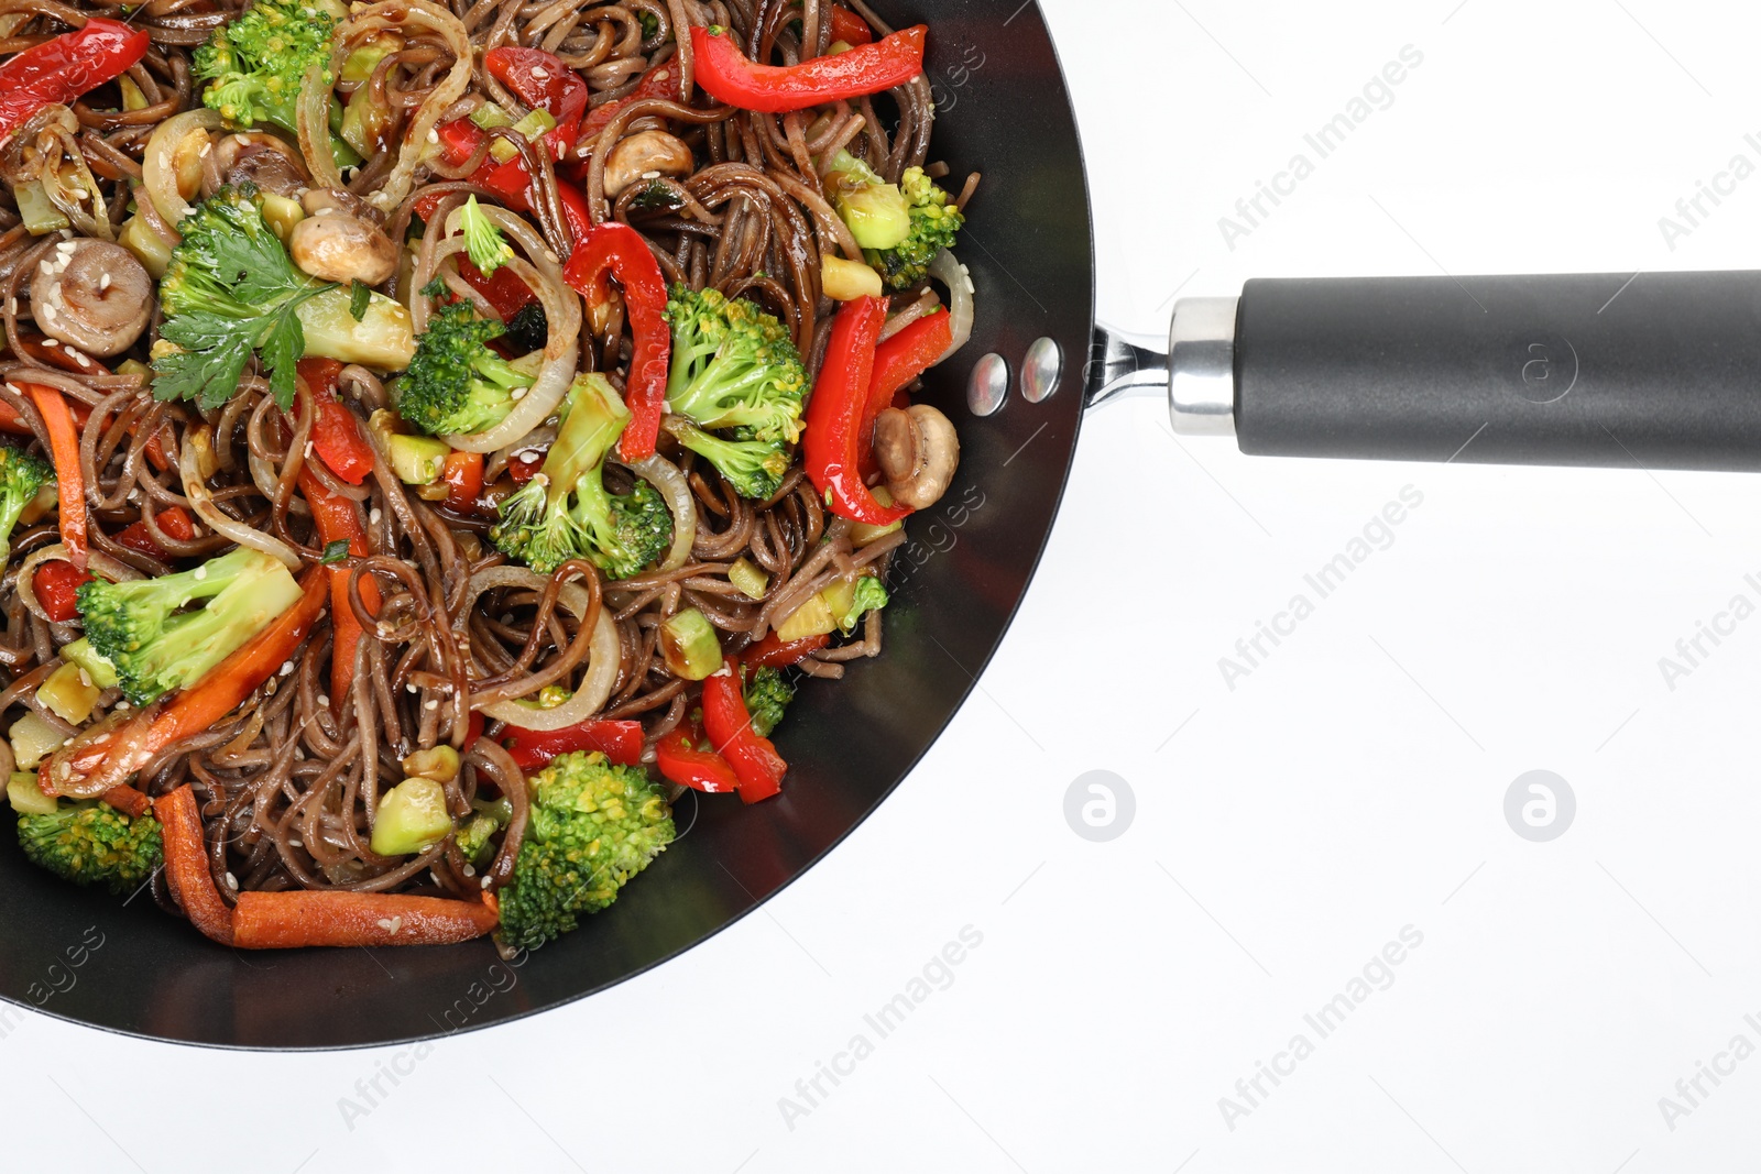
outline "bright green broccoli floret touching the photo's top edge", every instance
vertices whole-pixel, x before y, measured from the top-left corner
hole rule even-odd
[[[227,127],[248,130],[259,121],[275,123],[298,136],[299,88],[306,70],[322,69],[321,84],[329,90],[331,35],[336,19],[310,4],[292,0],[255,0],[197,46],[192,72],[210,81],[203,106],[220,111]],[[331,136],[331,157],[338,167],[354,167],[361,157]]]

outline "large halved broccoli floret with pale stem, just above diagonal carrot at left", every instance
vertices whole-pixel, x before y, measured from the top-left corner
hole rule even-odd
[[[247,547],[157,579],[92,579],[77,595],[86,639],[137,706],[194,685],[298,598],[287,567]],[[195,600],[208,604],[180,611]]]

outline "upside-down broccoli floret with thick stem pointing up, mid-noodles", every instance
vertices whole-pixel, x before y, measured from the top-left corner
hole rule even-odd
[[[502,502],[502,521],[490,532],[504,554],[541,574],[588,558],[609,577],[629,579],[666,553],[673,516],[655,488],[637,481],[623,496],[606,489],[606,458],[629,419],[604,375],[576,377],[544,465]]]

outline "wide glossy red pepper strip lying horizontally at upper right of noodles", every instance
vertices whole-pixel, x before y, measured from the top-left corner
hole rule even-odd
[[[690,30],[690,51],[697,84],[711,99],[745,111],[785,114],[905,84],[923,72],[928,33],[928,25],[916,25],[849,53],[799,65],[759,65],[740,51],[727,30],[711,26]]]

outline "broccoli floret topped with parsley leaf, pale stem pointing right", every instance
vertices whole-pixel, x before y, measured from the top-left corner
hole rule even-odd
[[[282,408],[294,407],[294,363],[305,354],[391,371],[409,366],[410,312],[368,294],[356,315],[347,289],[301,273],[262,218],[254,185],[220,188],[178,222],[178,232],[183,239],[158,282],[166,320],[153,345],[157,398],[217,408],[259,349]]]

